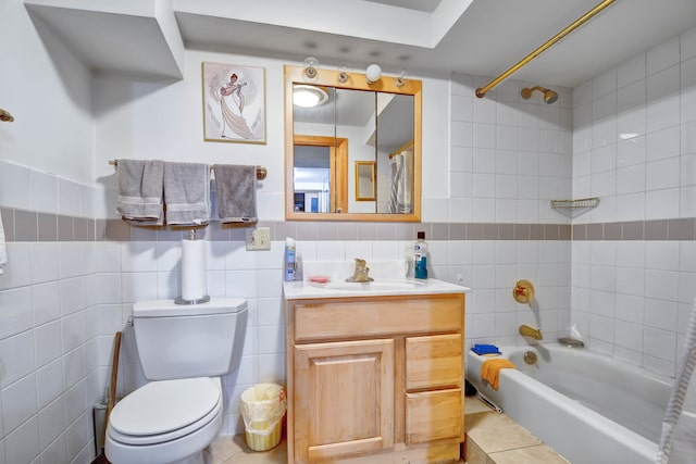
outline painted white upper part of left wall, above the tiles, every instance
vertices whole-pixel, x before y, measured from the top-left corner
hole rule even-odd
[[[0,105],[15,118],[0,125],[0,160],[90,185],[89,72],[50,33],[39,37],[21,0],[0,1]]]

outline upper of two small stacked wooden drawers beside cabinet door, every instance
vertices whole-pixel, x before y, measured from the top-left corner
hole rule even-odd
[[[406,389],[461,387],[461,334],[407,337]]]

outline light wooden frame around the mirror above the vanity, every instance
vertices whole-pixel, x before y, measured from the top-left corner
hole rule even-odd
[[[422,140],[422,83],[418,79],[407,79],[401,87],[397,87],[396,78],[382,76],[380,80],[368,84],[364,74],[346,73],[345,83],[338,81],[340,74],[335,70],[316,70],[316,77],[310,79],[304,75],[302,66],[286,65],[285,74],[285,218],[286,221],[355,221],[355,222],[421,222],[421,140]],[[295,135],[293,86],[295,84],[320,85],[337,89],[366,90],[386,93],[407,95],[413,97],[413,212],[410,214],[390,213],[307,213],[295,211],[295,179],[294,158],[295,145],[301,145],[308,135]],[[347,156],[346,156],[347,158]],[[376,162],[376,160],[375,160]],[[347,166],[346,166],[347,167]],[[340,170],[339,170],[340,171]],[[348,183],[347,168],[345,183]]]

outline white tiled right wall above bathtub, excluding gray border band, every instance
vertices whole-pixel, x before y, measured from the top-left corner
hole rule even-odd
[[[575,88],[573,113],[573,196],[601,200],[575,222],[647,223],[646,240],[573,241],[572,319],[594,348],[674,375],[696,242],[647,235],[696,216],[696,29]]]

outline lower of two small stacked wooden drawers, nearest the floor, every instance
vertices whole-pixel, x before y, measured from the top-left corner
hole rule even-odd
[[[406,444],[463,438],[460,388],[406,393]]]

